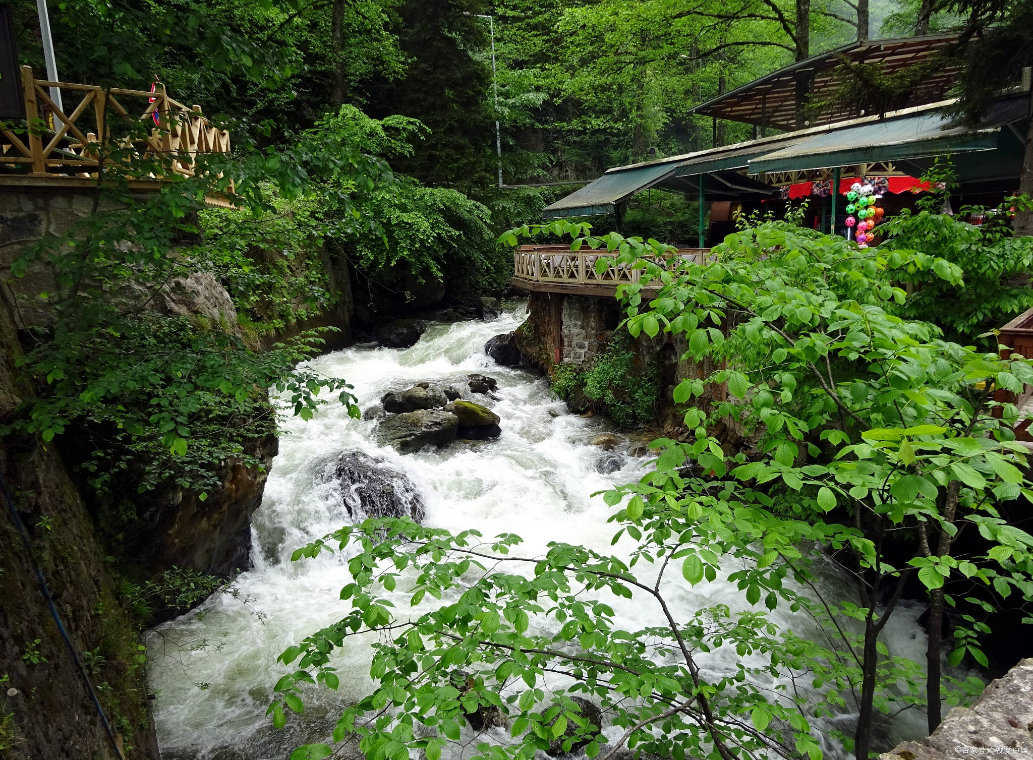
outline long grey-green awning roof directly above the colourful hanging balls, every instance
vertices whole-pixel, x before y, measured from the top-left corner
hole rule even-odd
[[[950,116],[936,110],[815,135],[751,159],[749,171],[799,171],[991,151],[997,148],[999,132],[1000,126],[953,125]]]

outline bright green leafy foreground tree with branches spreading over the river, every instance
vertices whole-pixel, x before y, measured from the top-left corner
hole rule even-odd
[[[676,402],[708,385],[730,395],[709,412],[691,407],[694,440],[655,441],[653,469],[604,495],[620,529],[614,542],[634,542],[631,562],[562,542],[524,558],[511,534],[484,541],[476,531],[451,535],[409,520],[343,528],[292,556],[347,549],[351,581],[341,598],[352,609],[281,655],[296,669],[276,686],[274,724],[303,709],[306,685],[338,686],[336,647],[379,631],[371,667],[378,686],[342,712],[334,732],[335,741],[357,734],[370,757],[419,749],[439,757],[445,743],[464,740],[466,716],[481,707],[507,717],[512,741],[478,745],[475,757],[531,758],[563,733],[558,717],[575,724],[595,757],[612,742],[569,700],[577,692],[624,729],[609,752],[627,742],[660,756],[819,760],[811,721],[850,711],[859,714],[856,730],[839,735],[867,757],[876,714],[925,701],[920,665],[890,657],[879,641],[912,575],[931,595],[976,589],[995,606],[1012,594],[1033,597],[1033,536],[998,511],[1005,501],[1033,500],[1027,451],[1009,429],[1018,410],[992,398],[994,385],[1033,382],[1033,366],[943,341],[893,313],[906,299],[891,284],[901,271],[961,283],[957,265],[925,253],[859,251],[840,237],[763,224],[728,235],[716,261],[670,271],[657,263],[660,244],[588,231],[561,221],[502,240],[569,234],[574,248],[605,247],[641,268],[637,283],[620,286],[628,332],[683,334],[684,358],[721,368],[684,381]],[[654,284],[647,302],[643,291]],[[755,433],[754,454],[728,455],[712,435],[727,418]],[[781,495],[824,518],[773,510]],[[952,546],[963,528],[979,540]],[[888,532],[907,542],[895,549],[901,560],[888,553]],[[824,550],[808,548],[816,544]],[[856,600],[819,595],[813,581],[829,560],[849,571]],[[690,585],[725,577],[749,608],[714,605],[675,620],[665,594],[678,585],[661,582],[675,568]],[[413,607],[440,601],[396,612],[383,594],[399,582]],[[606,594],[654,607],[664,622],[617,630]],[[766,611],[780,606],[805,610],[828,645],[780,629]],[[720,646],[735,647],[732,672],[705,674],[697,654]],[[470,674],[465,690],[455,687],[459,669]],[[549,690],[546,672],[567,679]],[[806,694],[790,686],[802,675],[812,684]],[[937,699],[941,680],[949,682],[927,685]],[[971,688],[956,684],[951,699]]]

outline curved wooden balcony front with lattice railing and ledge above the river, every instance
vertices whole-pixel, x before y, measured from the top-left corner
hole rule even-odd
[[[702,262],[708,248],[679,248],[669,258]],[[602,272],[596,270],[599,259],[608,259]],[[520,290],[603,295],[613,297],[617,286],[638,282],[641,270],[617,263],[617,254],[602,250],[571,251],[570,246],[521,246],[513,250],[513,277],[510,281]]]

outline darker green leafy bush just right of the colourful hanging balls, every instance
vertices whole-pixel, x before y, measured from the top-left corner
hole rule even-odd
[[[1033,209],[1033,201],[1007,197],[996,209],[967,205],[947,215],[941,207],[953,186],[949,164],[938,163],[925,179],[942,189],[926,194],[917,211],[905,209],[879,225],[886,237],[881,248],[925,251],[959,266],[964,281],[920,270],[901,272],[899,282],[912,283],[914,293],[900,313],[939,325],[949,340],[996,349],[996,336],[988,334],[1033,308],[1033,237],[1014,236],[1009,226],[1015,211]],[[983,223],[963,221],[969,215],[982,217]]]

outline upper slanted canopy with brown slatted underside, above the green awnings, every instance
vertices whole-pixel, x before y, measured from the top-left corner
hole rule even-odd
[[[797,123],[797,84],[803,83],[808,94],[806,126],[832,124],[865,116],[855,104],[840,102],[836,69],[844,61],[878,64],[883,73],[930,60],[953,42],[950,35],[928,35],[899,39],[870,39],[851,42],[826,53],[774,71],[748,85],[718,95],[692,110],[696,114],[753,124],[761,129],[793,130]],[[907,94],[898,108],[912,107],[943,100],[958,76],[957,66],[938,66]]]

